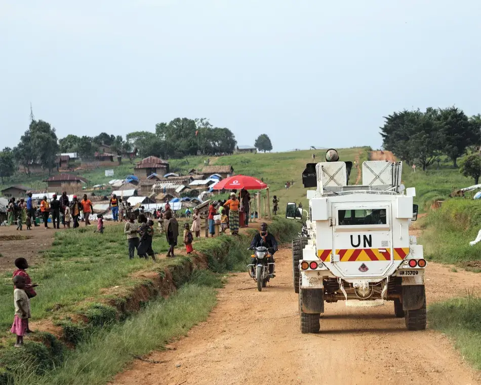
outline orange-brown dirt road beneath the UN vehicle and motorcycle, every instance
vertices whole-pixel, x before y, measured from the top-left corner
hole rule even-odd
[[[207,322],[150,357],[167,363],[136,362],[113,384],[481,384],[447,337],[407,331],[392,302],[327,303],[321,332],[301,334],[290,249],[279,250],[276,262],[276,278],[264,291],[247,273],[233,276]],[[481,288],[481,275],[435,263],[427,269],[428,301]]]

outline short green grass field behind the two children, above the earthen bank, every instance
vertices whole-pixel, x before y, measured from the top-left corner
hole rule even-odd
[[[132,284],[130,273],[152,267],[151,261],[129,259],[123,230],[119,224],[107,226],[103,235],[94,233],[93,227],[56,233],[53,247],[43,253],[44,262],[28,270],[33,282],[44,285],[37,288],[38,295],[31,301],[33,320],[75,311],[75,304],[98,295],[101,288]],[[165,237],[154,237],[153,249],[167,252]],[[164,260],[156,266],[171,262]],[[0,286],[3,329],[12,322],[11,296],[11,287]]]

